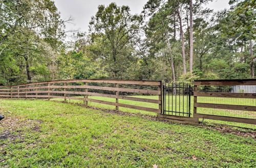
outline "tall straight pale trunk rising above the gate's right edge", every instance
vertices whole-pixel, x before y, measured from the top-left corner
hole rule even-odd
[[[189,71],[193,72],[193,8],[192,8],[192,0],[189,0],[189,23],[190,23],[190,31],[189,31]]]

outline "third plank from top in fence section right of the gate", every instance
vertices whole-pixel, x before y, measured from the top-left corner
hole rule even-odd
[[[232,110],[256,111],[256,106],[249,105],[230,105],[230,104],[212,104],[212,103],[194,103],[195,107],[219,108]]]

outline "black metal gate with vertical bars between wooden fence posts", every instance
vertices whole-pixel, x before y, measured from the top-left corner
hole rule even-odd
[[[163,114],[190,117],[191,86],[185,83],[166,83],[163,86]]]

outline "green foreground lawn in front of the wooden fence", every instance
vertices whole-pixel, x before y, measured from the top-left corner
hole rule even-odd
[[[47,100],[0,104],[0,167],[256,166],[252,137]]]

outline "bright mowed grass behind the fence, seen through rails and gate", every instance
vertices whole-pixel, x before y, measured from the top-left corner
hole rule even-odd
[[[131,97],[139,97],[139,98],[158,100],[158,96],[131,96]],[[116,102],[115,98],[99,97],[99,96],[89,96],[89,98],[103,100],[103,101]],[[55,99],[55,98],[51,99],[51,100],[63,101],[63,99]],[[73,102],[73,103],[81,103],[81,104],[83,103],[83,101],[81,101],[81,100],[67,99],[67,101]],[[183,97],[183,96],[178,96],[178,95],[177,96],[172,96],[172,95],[168,96],[167,95],[165,101],[166,101],[166,106],[165,106],[166,110],[184,111],[185,113],[188,112],[189,108],[188,108],[188,103],[187,103],[188,102],[187,96]],[[194,106],[194,97],[193,96],[191,96],[190,102],[191,102],[190,103],[190,106],[191,106],[190,113],[191,113],[191,117],[193,117],[193,106]],[[247,99],[247,98],[198,97],[198,102],[256,106],[255,99]],[[123,99],[119,99],[119,103],[131,104],[131,105],[137,105],[137,106],[143,106],[143,107],[158,108],[158,104],[156,104],[156,103],[147,103],[147,102],[123,100]],[[169,106],[168,106],[168,104],[169,104]],[[88,102],[88,105],[93,106],[93,107],[103,108],[103,109],[115,109],[115,106],[113,106],[113,105],[99,104],[99,103],[95,103],[95,102]],[[119,110],[129,112],[129,113],[141,113],[141,114],[156,116],[156,113],[153,113],[153,112],[125,108],[125,107],[119,107]],[[208,114],[208,115],[256,119],[256,113],[254,111],[241,111],[241,110],[227,110],[227,109],[198,107],[197,113]],[[172,115],[172,112],[169,112],[169,114]],[[175,115],[175,113],[173,113],[173,115]],[[179,114],[177,114],[177,115],[179,115]],[[182,114],[180,114],[180,115],[182,116]],[[233,122],[214,121],[214,120],[204,120],[204,121],[256,129],[256,126],[252,125],[252,124],[233,123]]]

